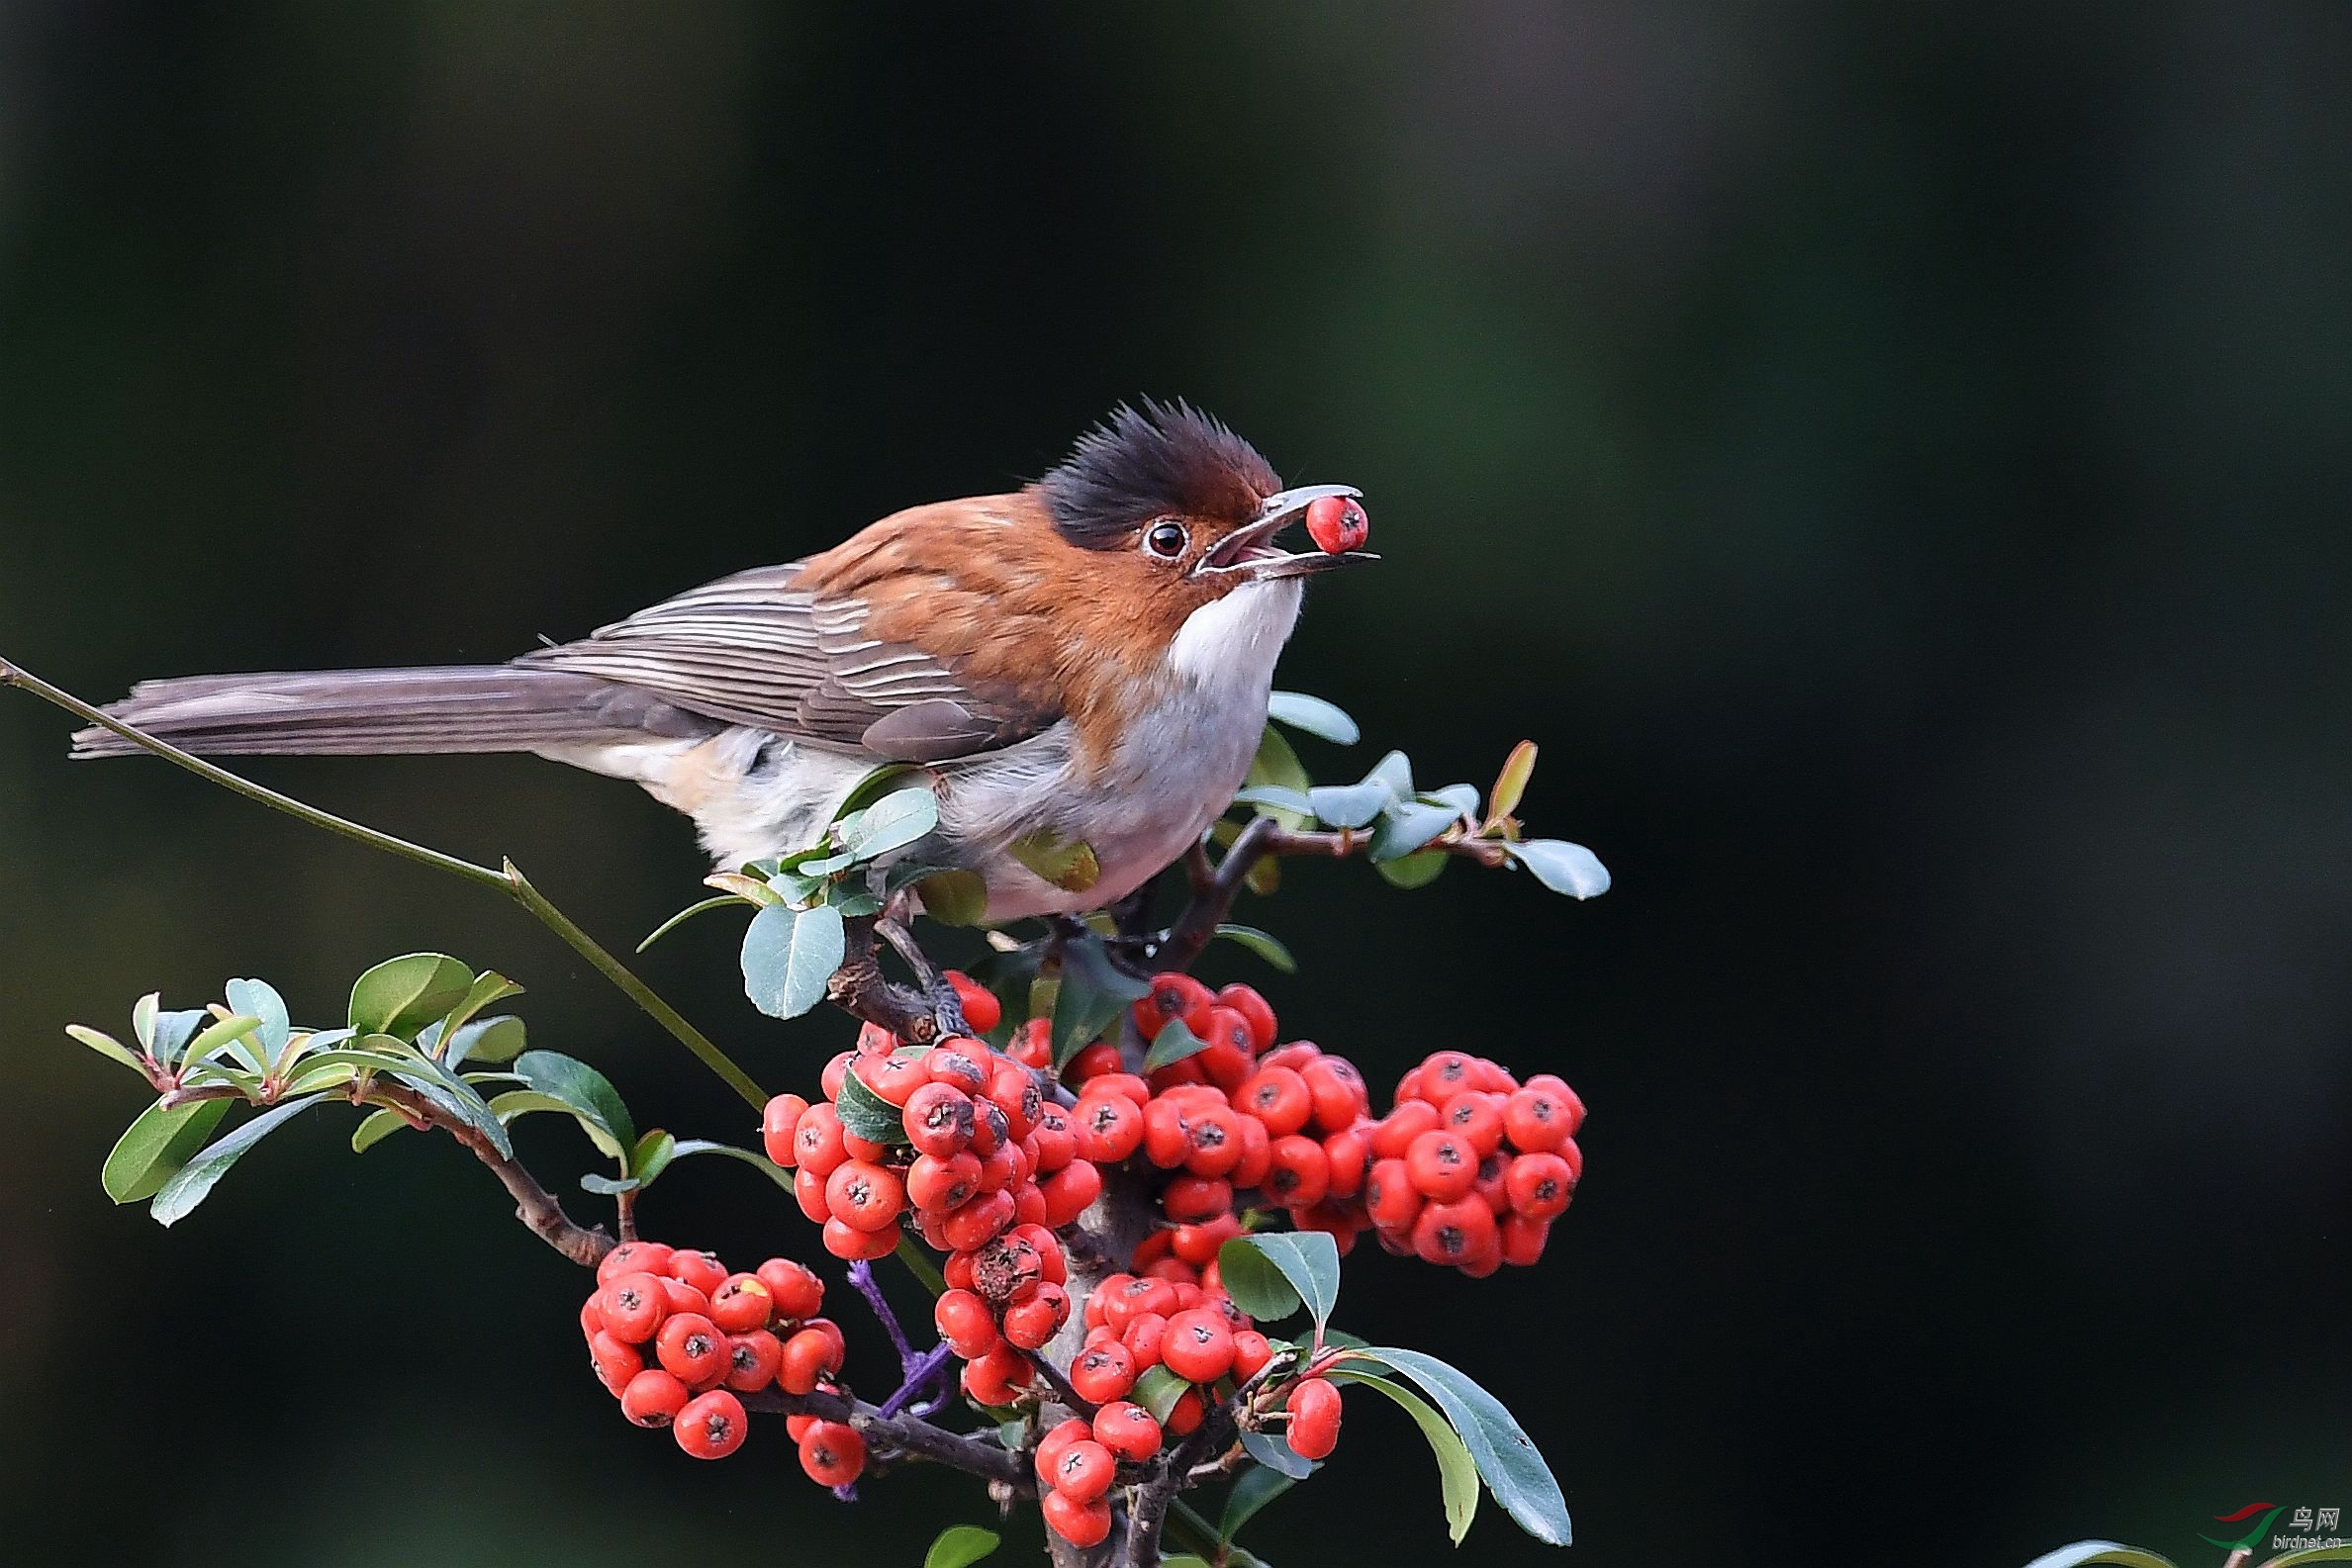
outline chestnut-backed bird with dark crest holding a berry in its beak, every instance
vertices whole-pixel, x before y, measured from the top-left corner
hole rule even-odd
[[[802,849],[875,766],[931,769],[908,856],[978,872],[988,919],[1117,903],[1218,818],[1265,726],[1303,578],[1345,484],[1284,489],[1178,402],[1122,407],[1035,484],[894,512],[503,665],[200,675],[108,712],[191,752],[536,752],[630,778],[720,867]],[[1348,501],[1341,501],[1348,498]],[[134,750],[106,729],[78,757]],[[1049,882],[1016,846],[1094,856]],[[1084,882],[1084,886],[1065,886]]]

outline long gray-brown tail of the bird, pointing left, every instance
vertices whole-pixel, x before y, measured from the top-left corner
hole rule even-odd
[[[106,712],[221,757],[527,752],[722,729],[640,686],[524,665],[191,675],[143,682]],[[75,757],[136,750],[111,729],[73,736]]]

